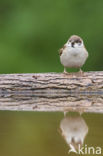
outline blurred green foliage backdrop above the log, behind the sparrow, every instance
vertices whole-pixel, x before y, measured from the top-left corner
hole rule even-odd
[[[0,73],[62,72],[58,49],[80,35],[83,69],[103,70],[103,0],[1,0]]]

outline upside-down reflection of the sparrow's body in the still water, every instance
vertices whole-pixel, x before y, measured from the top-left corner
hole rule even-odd
[[[82,147],[84,139],[88,133],[88,126],[81,116],[67,116],[60,122],[60,134],[72,152],[76,152],[78,147]]]

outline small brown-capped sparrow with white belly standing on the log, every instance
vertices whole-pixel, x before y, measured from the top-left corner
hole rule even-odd
[[[79,68],[84,65],[88,58],[88,51],[84,46],[83,39],[77,35],[72,35],[64,46],[59,50],[60,62],[64,66],[64,73],[66,68]]]

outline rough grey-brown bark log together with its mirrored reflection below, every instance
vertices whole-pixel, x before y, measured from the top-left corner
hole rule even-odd
[[[103,72],[2,74],[0,110],[103,113]]]

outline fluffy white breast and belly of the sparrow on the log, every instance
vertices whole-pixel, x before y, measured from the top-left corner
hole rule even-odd
[[[84,47],[67,47],[60,56],[61,64],[64,67],[79,68],[83,66],[88,57]]]

